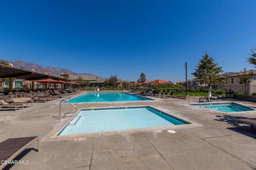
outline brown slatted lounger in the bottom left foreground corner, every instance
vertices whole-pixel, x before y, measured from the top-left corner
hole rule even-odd
[[[30,146],[37,140],[37,151],[39,152],[39,137],[23,137],[23,138],[10,138],[0,143],[0,169],[4,168],[8,162],[12,161],[18,154],[25,148]]]

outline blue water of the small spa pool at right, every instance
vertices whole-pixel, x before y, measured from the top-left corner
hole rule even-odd
[[[200,105],[196,105],[200,106]],[[239,105],[237,103],[211,103],[211,104],[201,104],[201,107],[212,109],[222,112],[242,112],[242,111],[254,111],[250,107]]]

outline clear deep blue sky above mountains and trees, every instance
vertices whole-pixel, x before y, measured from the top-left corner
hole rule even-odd
[[[0,59],[102,78],[185,81],[207,51],[254,69],[256,0],[0,0]]]

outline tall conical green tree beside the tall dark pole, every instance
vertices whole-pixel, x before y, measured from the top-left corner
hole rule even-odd
[[[224,83],[224,77],[220,75],[223,72],[222,67],[217,67],[218,63],[214,63],[214,59],[209,57],[207,52],[205,56],[202,55],[200,63],[198,63],[197,69],[194,73],[191,73],[197,78],[197,81],[201,84],[217,85],[218,83]]]

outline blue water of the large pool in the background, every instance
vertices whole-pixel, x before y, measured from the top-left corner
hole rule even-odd
[[[71,99],[70,103],[82,103],[82,102],[105,102],[105,101],[141,101],[152,100],[146,97],[137,95],[131,95],[124,92],[100,92],[100,93],[86,93],[75,99]]]

